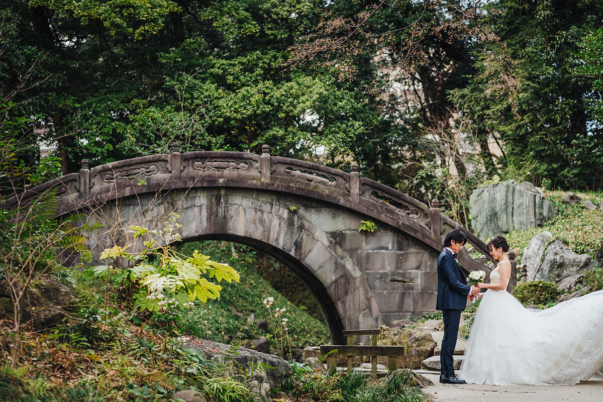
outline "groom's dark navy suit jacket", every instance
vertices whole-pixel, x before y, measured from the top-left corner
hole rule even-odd
[[[461,266],[448,253],[442,250],[438,257],[438,300],[437,310],[464,310],[471,286],[463,274]]]

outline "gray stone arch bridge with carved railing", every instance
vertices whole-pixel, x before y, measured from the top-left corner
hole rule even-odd
[[[417,199],[347,173],[285,157],[194,151],[121,160],[48,181],[8,199],[30,203],[55,189],[58,216],[112,216],[113,225],[157,226],[177,212],[183,241],[222,239],[251,245],[294,271],[315,295],[333,342],[342,330],[372,328],[435,309],[443,236],[463,230],[479,253],[485,244]],[[96,216],[96,215],[95,215]],[[359,232],[373,221],[373,233]],[[115,239],[91,237],[98,256]],[[483,259],[483,257],[482,257]],[[466,251],[467,271],[484,269]]]

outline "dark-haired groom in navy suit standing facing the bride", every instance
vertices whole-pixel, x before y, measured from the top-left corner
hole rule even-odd
[[[456,254],[466,242],[467,236],[462,231],[451,230],[444,239],[444,250],[438,258],[438,301],[435,308],[442,310],[444,316],[444,339],[440,351],[440,382],[444,384],[465,383],[454,374],[452,355],[461,312],[465,309],[467,300],[479,292],[479,287],[467,286],[465,275],[456,261]]]

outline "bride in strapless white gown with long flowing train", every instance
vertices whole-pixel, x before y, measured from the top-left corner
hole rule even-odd
[[[570,385],[588,380],[603,366],[603,291],[526,309],[509,294],[511,263],[505,237],[488,242],[498,265],[473,321],[461,374],[467,383]]]

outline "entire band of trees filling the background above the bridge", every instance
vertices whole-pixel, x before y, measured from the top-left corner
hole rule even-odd
[[[0,95],[39,129],[28,143],[57,142],[63,172],[175,141],[268,143],[452,204],[504,168],[601,185],[596,71],[571,71],[579,49],[596,65],[596,1],[9,0],[1,13]]]

